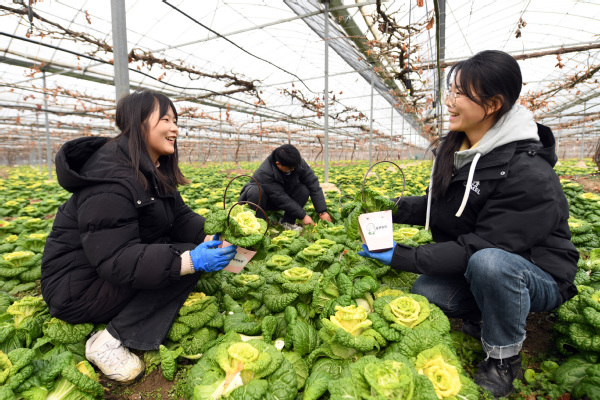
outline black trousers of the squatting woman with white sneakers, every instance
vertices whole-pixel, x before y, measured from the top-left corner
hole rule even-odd
[[[56,318],[72,324],[108,323],[106,330],[125,347],[155,350],[167,337],[183,303],[202,274],[184,275],[157,289],[134,290],[112,285],[98,278],[103,286],[101,298],[72,301],[65,312]]]

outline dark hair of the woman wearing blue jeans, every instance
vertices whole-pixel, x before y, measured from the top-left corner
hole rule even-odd
[[[458,75],[460,72],[460,75]],[[500,107],[484,119],[498,122],[514,106],[523,85],[517,61],[503,51],[486,50],[452,66],[447,77],[448,87],[455,83],[461,93],[487,112],[495,102]],[[454,172],[454,153],[460,149],[464,132],[450,131],[444,138],[432,143],[436,148],[435,170],[430,182],[433,197],[439,199],[446,193]]]

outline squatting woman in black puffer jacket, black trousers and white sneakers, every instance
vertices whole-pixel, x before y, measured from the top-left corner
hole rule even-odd
[[[177,191],[187,181],[173,103],[136,91],[119,101],[116,124],[114,139],[75,139],[56,155],[58,182],[73,194],[46,241],[41,286],[52,316],[108,324],[86,358],[128,382],[144,363],[127,348],[158,349],[199,272],[227,266],[236,248],[203,243],[204,218]]]

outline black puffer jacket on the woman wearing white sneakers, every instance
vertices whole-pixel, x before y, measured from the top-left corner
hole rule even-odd
[[[115,290],[178,280],[180,252],[204,240],[204,218],[179,192],[158,193],[150,161],[141,168],[153,186],[145,190],[128,160],[124,137],[75,139],[56,155],[58,182],[73,194],[58,209],[42,260],[42,294],[53,315],[97,306]]]

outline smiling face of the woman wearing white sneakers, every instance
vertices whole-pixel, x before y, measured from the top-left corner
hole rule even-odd
[[[179,134],[179,128],[173,110],[169,107],[167,113],[161,116],[160,107],[157,103],[154,112],[150,114],[144,124],[144,133],[148,153],[154,163],[158,161],[160,156],[175,153],[175,140]]]

